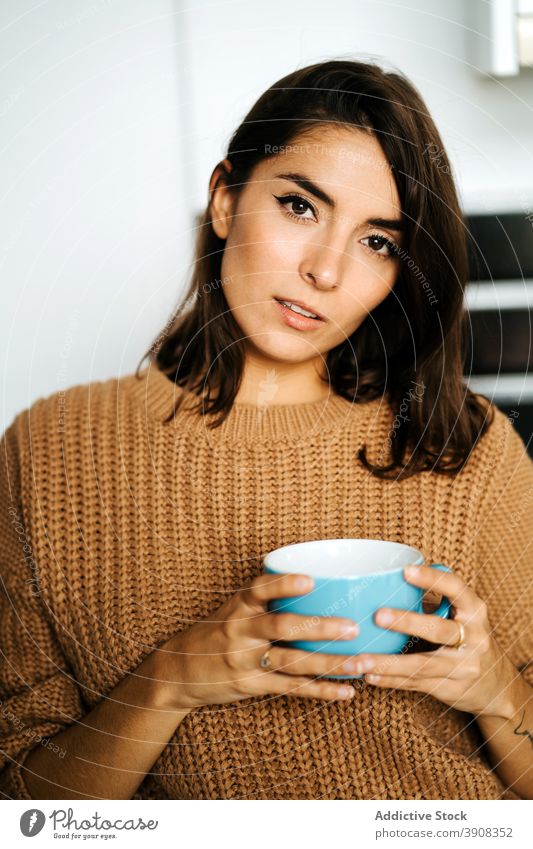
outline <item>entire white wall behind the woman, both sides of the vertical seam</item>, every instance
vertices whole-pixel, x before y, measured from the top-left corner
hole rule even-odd
[[[533,209],[533,70],[473,66],[462,0],[3,0],[3,426],[132,371],[192,258],[193,212],[262,91],[329,58],[425,97],[467,211]]]

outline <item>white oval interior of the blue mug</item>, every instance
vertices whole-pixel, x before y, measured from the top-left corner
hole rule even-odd
[[[274,572],[313,578],[359,578],[403,570],[424,563],[421,551],[382,539],[319,539],[297,542],[270,551],[263,565]]]

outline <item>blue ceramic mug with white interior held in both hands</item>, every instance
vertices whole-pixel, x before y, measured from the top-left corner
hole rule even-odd
[[[381,539],[319,539],[270,551],[263,559],[264,572],[310,575],[314,586],[303,595],[269,601],[269,611],[308,617],[347,617],[359,625],[359,634],[353,640],[306,640],[302,631],[300,638],[283,644],[324,654],[399,654],[409,635],[381,628],[375,623],[374,614],[380,607],[424,612],[424,590],[408,583],[403,575],[406,566],[423,564],[424,559],[424,555],[412,546]],[[441,563],[430,565],[445,572],[452,571]],[[431,615],[447,619],[450,608],[450,601],[443,597]]]

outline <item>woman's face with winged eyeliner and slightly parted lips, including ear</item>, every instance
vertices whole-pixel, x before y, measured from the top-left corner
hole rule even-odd
[[[321,364],[394,286],[400,200],[379,143],[363,131],[321,129],[274,153],[240,195],[223,185],[213,193],[224,294],[255,360]],[[302,320],[280,300],[322,319]]]

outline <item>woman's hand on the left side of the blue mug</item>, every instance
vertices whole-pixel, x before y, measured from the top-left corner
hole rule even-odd
[[[351,619],[273,613],[267,602],[303,595],[302,575],[262,574],[231,596],[207,620],[175,634],[156,651],[160,655],[165,704],[170,709],[226,704],[250,696],[285,693],[314,699],[350,699],[349,682],[315,681],[314,676],[346,675],[342,664],[351,655],[333,655],[271,646],[273,641],[352,640],[358,627]],[[352,630],[348,633],[345,628]],[[259,660],[270,649],[271,669]]]

